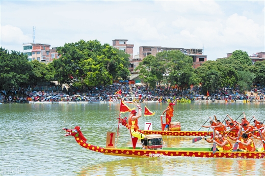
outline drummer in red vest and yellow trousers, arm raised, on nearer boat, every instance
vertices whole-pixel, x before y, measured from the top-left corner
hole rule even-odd
[[[128,127],[130,128],[131,135],[141,139],[141,142],[144,143],[145,149],[147,149],[147,137],[138,131],[138,119],[142,116],[142,108],[140,105],[137,105],[139,114],[134,109],[130,112],[128,118]]]

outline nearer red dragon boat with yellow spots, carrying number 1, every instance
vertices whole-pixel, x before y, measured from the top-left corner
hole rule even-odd
[[[185,156],[185,157],[202,157],[202,158],[251,158],[263,159],[265,152],[216,152],[213,153],[210,148],[161,148],[153,150],[145,150],[139,147],[116,147],[114,142],[107,142],[106,146],[110,148],[103,148],[101,146],[87,143],[87,139],[81,132],[81,128],[76,126],[73,130],[63,128],[67,133],[65,136],[73,136],[76,142],[83,148],[99,152],[104,155],[125,156],[125,157],[160,157],[160,156]],[[111,135],[113,138],[113,134]],[[115,137],[114,137],[115,138]],[[108,141],[108,137],[107,137]]]

